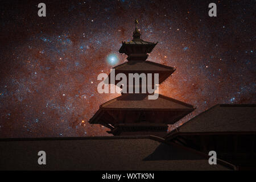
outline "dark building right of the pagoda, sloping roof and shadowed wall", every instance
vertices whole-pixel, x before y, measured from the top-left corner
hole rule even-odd
[[[171,131],[166,140],[208,154],[238,169],[256,169],[256,105],[221,104]]]

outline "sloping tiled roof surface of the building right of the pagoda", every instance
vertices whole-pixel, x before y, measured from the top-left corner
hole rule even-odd
[[[256,132],[256,105],[215,105],[177,128],[179,133]]]

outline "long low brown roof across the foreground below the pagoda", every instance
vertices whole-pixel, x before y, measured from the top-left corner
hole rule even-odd
[[[154,136],[0,140],[0,149],[0,170],[234,169],[221,161],[209,165],[208,155]],[[47,165],[37,163],[40,150]]]

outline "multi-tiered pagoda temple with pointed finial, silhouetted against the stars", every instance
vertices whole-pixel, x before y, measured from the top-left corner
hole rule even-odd
[[[159,84],[166,80],[175,68],[147,61],[149,53],[157,43],[146,42],[141,39],[141,32],[135,20],[133,40],[122,42],[119,53],[125,53],[127,62],[114,67],[115,75],[124,73],[159,74]],[[129,83],[129,81],[127,81]],[[135,83],[133,83],[135,84]],[[115,82],[117,85],[117,82]],[[129,88],[131,85],[127,85]],[[133,85],[135,86],[138,85]],[[143,86],[139,82],[140,91]],[[155,85],[153,85],[155,86]],[[152,93],[151,93],[152,94]],[[168,125],[179,121],[191,113],[196,107],[159,94],[156,100],[148,99],[150,93],[122,93],[121,96],[105,102],[89,120],[90,124],[100,124],[108,127],[108,133],[113,135],[156,135],[163,137],[167,134]]]

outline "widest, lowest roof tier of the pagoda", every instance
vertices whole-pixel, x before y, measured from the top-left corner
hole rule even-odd
[[[102,104],[89,122],[104,126],[139,122],[173,124],[193,110],[192,105],[161,94],[156,100],[148,100],[147,94],[123,94]]]

